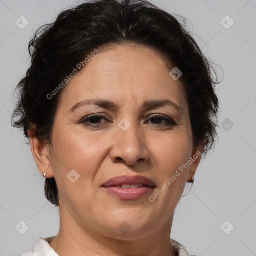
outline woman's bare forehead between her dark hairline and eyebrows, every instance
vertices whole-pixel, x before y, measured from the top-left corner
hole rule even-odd
[[[169,75],[172,68],[163,53],[150,47],[105,47],[70,80],[60,102],[100,98],[123,103],[164,97],[186,105],[183,84]]]

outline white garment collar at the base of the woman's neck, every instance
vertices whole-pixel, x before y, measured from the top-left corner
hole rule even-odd
[[[49,245],[49,242],[51,242],[54,237],[55,236],[47,238],[40,237],[40,241],[35,244],[33,251],[21,253],[19,256],[59,256],[57,252]],[[173,239],[170,239],[170,242],[176,250],[178,256],[189,256],[183,245]]]

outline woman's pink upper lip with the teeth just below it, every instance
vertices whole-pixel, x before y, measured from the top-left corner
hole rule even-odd
[[[107,180],[103,187],[116,186],[121,188],[154,187],[153,180],[143,176],[117,176]]]

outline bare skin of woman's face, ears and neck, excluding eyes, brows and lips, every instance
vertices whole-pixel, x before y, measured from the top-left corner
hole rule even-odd
[[[193,146],[184,87],[169,75],[172,68],[165,56],[146,46],[99,50],[61,91],[51,144],[29,130],[41,174],[55,177],[59,189],[60,230],[50,242],[59,255],[175,255],[169,240],[174,209],[200,156],[154,202],[148,198],[202,147]],[[83,105],[69,111],[91,98],[110,100],[119,108]],[[168,105],[142,109],[151,99],[169,99],[183,114]],[[106,119],[87,120],[96,127],[80,122],[94,113]],[[156,114],[160,117],[153,119]],[[126,131],[118,126],[123,118],[131,124]],[[80,175],[74,183],[67,178],[72,169]],[[124,201],[101,187],[119,175],[142,175],[156,187],[141,199]],[[130,226],[126,233],[118,228],[123,221]]]

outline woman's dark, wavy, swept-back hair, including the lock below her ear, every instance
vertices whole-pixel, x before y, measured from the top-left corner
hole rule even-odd
[[[64,10],[53,23],[39,27],[28,45],[31,65],[14,90],[12,126],[22,127],[26,138],[33,129],[40,141],[51,144],[64,88],[51,99],[47,95],[93,49],[129,42],[158,50],[182,71],[179,80],[185,86],[193,145],[203,141],[205,156],[217,138],[216,72],[185,25],[146,0],[93,0]],[[47,200],[59,206],[54,177],[45,179],[44,191]]]

